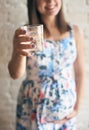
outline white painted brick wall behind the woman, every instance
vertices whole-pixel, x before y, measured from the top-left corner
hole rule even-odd
[[[89,130],[89,0],[63,0],[66,18],[84,33],[86,86],[78,130]],[[27,22],[26,0],[0,0],[0,130],[15,130],[16,99],[21,80],[12,80],[7,65],[14,30]]]

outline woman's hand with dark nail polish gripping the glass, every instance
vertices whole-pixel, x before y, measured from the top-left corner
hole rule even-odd
[[[18,55],[31,55],[30,51],[35,48],[35,40],[27,35],[26,30],[19,28],[15,31],[13,40],[13,52]]]

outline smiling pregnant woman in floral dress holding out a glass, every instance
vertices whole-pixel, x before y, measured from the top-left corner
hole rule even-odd
[[[28,0],[29,24],[44,25],[44,50],[29,53],[33,41],[19,28],[8,68],[21,77],[16,130],[77,130],[83,88],[83,38],[76,25],[64,19],[62,0]]]

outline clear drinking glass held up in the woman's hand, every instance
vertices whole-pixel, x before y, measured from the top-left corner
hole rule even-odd
[[[28,44],[35,44],[34,51],[43,51],[43,25],[25,25],[22,28],[26,30],[29,37],[33,38],[33,42],[28,42]]]

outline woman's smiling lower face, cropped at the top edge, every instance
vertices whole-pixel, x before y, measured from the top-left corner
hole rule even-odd
[[[61,9],[61,0],[36,0],[36,6],[41,16],[56,16]]]

